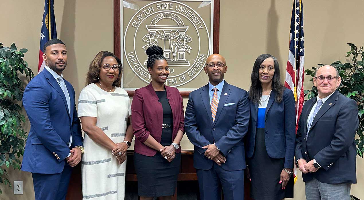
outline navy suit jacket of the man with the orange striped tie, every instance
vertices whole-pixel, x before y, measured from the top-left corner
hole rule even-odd
[[[224,104],[233,103],[224,106]],[[246,168],[244,142],[248,131],[249,100],[245,90],[229,85],[221,91],[215,121],[212,121],[209,84],[192,91],[185,114],[185,131],[194,144],[193,166],[209,170],[214,161],[206,158],[203,146],[214,144],[226,157],[221,167],[227,171]]]

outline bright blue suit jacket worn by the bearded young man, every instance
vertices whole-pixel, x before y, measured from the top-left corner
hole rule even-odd
[[[60,173],[70,148],[83,146],[75,90],[70,82],[64,80],[64,83],[70,94],[70,111],[61,87],[46,69],[25,87],[23,105],[30,121],[30,131],[21,166],[23,171],[39,174]],[[68,147],[70,134],[72,144]]]

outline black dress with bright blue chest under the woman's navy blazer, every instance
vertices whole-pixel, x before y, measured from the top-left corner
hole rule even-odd
[[[279,183],[284,168],[284,158],[270,158],[265,146],[265,108],[258,108],[255,147],[252,158],[248,159],[252,179],[250,197],[254,200],[281,200],[293,198],[293,175],[286,188]]]

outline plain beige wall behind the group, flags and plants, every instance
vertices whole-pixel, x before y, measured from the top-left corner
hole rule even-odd
[[[0,1],[0,42],[27,48],[25,60],[36,73],[38,65],[40,20],[44,0]],[[57,0],[54,4],[58,38],[68,50],[68,66],[64,76],[75,88],[76,99],[84,87],[88,64],[97,52],[113,51],[112,0]],[[305,0],[305,67],[336,60],[345,61],[346,43],[363,45],[362,0]],[[289,23],[292,1],[289,0],[221,0],[220,53],[229,70],[225,79],[230,84],[249,89],[249,76],[256,57],[270,53],[281,64],[284,77],[288,56]],[[308,89],[312,83],[305,81]],[[186,105],[187,100],[184,100]],[[29,130],[29,124],[25,125]],[[187,139],[187,137],[185,137]],[[185,140],[185,146],[189,145]],[[364,159],[357,159],[357,181],[351,193],[364,199]],[[33,200],[34,191],[29,173],[9,170],[11,182],[24,181],[24,195],[0,185],[1,200]],[[299,175],[295,187],[296,200],[304,199],[304,184]]]

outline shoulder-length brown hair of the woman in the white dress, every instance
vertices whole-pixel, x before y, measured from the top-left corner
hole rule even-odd
[[[105,57],[111,56],[114,57],[118,65],[120,65],[118,78],[112,83],[113,86],[121,87],[121,76],[123,73],[123,66],[121,65],[121,60],[116,57],[113,53],[107,51],[99,52],[94,60],[91,61],[90,66],[88,68],[87,77],[86,77],[86,85],[91,83],[97,83],[99,81],[99,73],[101,68],[101,62]]]

